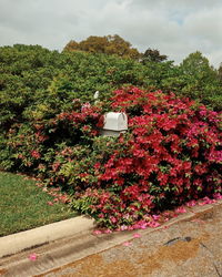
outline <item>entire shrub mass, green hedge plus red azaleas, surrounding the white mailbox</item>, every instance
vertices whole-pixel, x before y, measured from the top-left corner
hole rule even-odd
[[[0,168],[62,187],[101,225],[221,193],[222,86],[201,53],[142,64],[17,44],[0,48]],[[110,110],[129,116],[119,138],[99,136]]]

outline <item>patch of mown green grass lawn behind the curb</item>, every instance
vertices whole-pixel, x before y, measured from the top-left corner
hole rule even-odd
[[[62,203],[52,206],[53,197],[32,179],[0,172],[0,236],[77,216]]]

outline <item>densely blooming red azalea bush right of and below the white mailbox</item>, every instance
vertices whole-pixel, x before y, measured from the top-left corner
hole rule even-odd
[[[128,114],[129,131],[93,140],[94,162],[79,174],[74,208],[117,229],[153,224],[153,214],[221,195],[220,113],[138,88],[117,90],[112,109]],[[75,163],[63,167],[71,168],[67,176],[75,175]]]

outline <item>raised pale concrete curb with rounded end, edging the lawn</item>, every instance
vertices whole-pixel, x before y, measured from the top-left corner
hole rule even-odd
[[[92,228],[93,219],[85,216],[78,216],[34,229],[0,237],[0,258],[60,238],[65,238],[80,233],[87,233]]]

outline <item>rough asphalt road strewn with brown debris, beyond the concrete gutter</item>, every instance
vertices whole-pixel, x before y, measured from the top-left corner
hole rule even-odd
[[[222,206],[90,255],[46,277],[222,276]],[[132,234],[133,237],[133,234]]]

